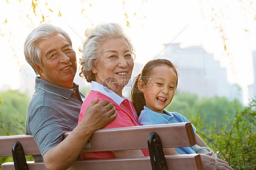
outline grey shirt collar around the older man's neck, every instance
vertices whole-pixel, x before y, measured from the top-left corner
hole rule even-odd
[[[69,99],[70,96],[73,93],[73,89],[77,89],[78,90],[78,85],[73,83],[73,88],[69,89],[66,87],[61,87],[59,85],[55,85],[53,83],[50,83],[49,81],[40,79],[38,77],[36,77],[36,87],[45,90],[49,93],[53,93],[56,95],[60,95],[61,97],[65,98],[65,99]]]

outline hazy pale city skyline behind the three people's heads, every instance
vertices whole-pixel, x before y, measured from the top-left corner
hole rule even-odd
[[[231,84],[227,81],[227,71],[220,67],[220,62],[213,59],[213,54],[207,53],[201,46],[191,46],[181,49],[179,43],[170,44],[163,51],[164,54],[157,58],[165,58],[172,61],[178,70],[178,94],[187,92],[202,97],[226,97],[228,100],[235,98],[246,105],[248,99],[256,96],[256,83],[249,86],[249,94],[243,94],[241,87],[237,84]],[[253,53],[254,65],[256,65],[256,50]],[[143,64],[135,62],[133,68],[132,80],[140,73]],[[256,69],[256,68],[255,68]],[[25,65],[20,71],[20,91],[25,92],[28,96],[34,93],[35,73],[30,65]],[[214,71],[212,71],[214,70]],[[74,80],[80,87],[80,90],[87,87],[87,83],[79,76],[79,70]],[[131,85],[131,83],[129,83]],[[125,96],[129,96],[130,87],[124,92]],[[10,86],[2,86],[0,90],[9,90]],[[177,95],[177,94],[176,94]]]

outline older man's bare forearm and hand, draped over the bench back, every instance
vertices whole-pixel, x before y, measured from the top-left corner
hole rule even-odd
[[[117,112],[112,103],[107,100],[97,102],[97,98],[92,100],[84,118],[72,133],[43,155],[48,170],[66,170],[69,168],[77,159],[92,133],[102,129],[116,118]]]

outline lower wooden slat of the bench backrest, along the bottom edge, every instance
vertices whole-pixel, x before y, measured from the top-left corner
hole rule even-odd
[[[166,155],[169,169],[172,170],[202,170],[200,155]],[[46,170],[43,162],[27,162],[31,170]],[[15,170],[13,162],[2,165],[3,170]],[[68,170],[151,170],[150,158],[116,158],[77,160]]]

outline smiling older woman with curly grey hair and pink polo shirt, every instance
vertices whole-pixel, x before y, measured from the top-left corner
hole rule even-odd
[[[116,108],[118,115],[105,128],[138,126],[138,116],[133,103],[122,95],[133,71],[133,45],[123,33],[120,25],[109,23],[97,25],[86,31],[87,40],[83,44],[80,64],[87,82],[92,83],[91,91],[82,104],[80,122],[89,103],[96,97],[99,101],[108,100]],[[148,155],[147,150],[82,153],[81,158],[113,158],[123,156]]]

